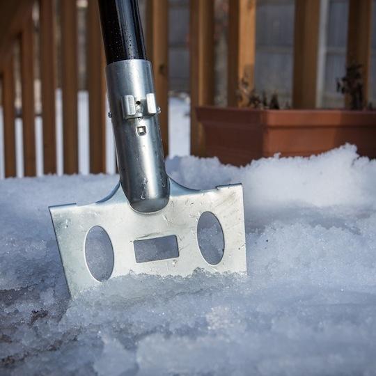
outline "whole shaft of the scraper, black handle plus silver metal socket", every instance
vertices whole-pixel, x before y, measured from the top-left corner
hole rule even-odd
[[[138,3],[136,0],[99,0],[99,3],[120,182],[134,210],[155,212],[169,202],[170,187]]]

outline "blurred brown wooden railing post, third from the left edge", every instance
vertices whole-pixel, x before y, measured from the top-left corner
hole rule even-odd
[[[40,0],[40,79],[45,173],[56,173],[54,1]]]

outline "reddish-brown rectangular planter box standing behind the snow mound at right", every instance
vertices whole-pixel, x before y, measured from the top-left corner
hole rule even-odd
[[[344,143],[376,157],[376,111],[198,107],[207,157],[242,166],[252,159],[312,155]]]

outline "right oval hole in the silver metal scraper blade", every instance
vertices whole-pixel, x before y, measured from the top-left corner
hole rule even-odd
[[[203,212],[197,224],[197,242],[205,261],[217,265],[224,256],[224,232],[217,217]]]

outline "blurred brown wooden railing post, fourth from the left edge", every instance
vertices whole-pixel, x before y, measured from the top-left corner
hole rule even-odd
[[[61,3],[61,86],[63,92],[64,173],[78,172],[77,134],[77,6]]]

